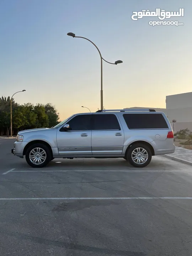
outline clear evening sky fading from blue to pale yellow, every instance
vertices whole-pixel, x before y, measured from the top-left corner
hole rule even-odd
[[[133,11],[178,11],[170,21],[132,20]],[[164,108],[166,95],[192,91],[191,0],[0,0],[0,96],[16,102],[52,103],[65,119],[103,106]],[[167,20],[167,19],[166,19]]]

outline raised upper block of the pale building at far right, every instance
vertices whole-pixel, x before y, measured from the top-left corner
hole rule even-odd
[[[192,92],[166,96],[166,109],[192,108]]]

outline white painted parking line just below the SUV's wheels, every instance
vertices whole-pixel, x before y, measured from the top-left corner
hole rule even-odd
[[[15,169],[12,169],[15,170]],[[9,172],[9,171],[8,171]],[[56,171],[33,171],[33,170],[26,170],[26,171],[11,171],[11,172],[189,172],[189,171],[181,171],[181,170],[56,170]],[[6,174],[6,173],[5,173]]]

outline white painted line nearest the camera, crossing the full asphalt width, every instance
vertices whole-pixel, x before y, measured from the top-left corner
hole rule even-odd
[[[192,197],[29,197],[29,198],[0,198],[2,200],[151,200],[151,199],[192,199]]]

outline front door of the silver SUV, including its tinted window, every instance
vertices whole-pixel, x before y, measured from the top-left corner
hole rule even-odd
[[[72,117],[67,124],[71,130],[57,131],[57,146],[59,155],[91,155],[91,116],[79,114]]]

